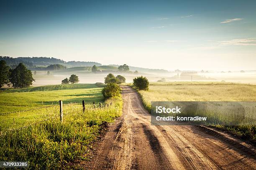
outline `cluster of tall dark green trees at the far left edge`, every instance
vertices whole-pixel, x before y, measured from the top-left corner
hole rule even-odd
[[[35,81],[32,76],[31,70],[28,70],[23,63],[19,63],[17,67],[11,69],[6,61],[0,61],[0,88],[3,85],[10,85],[13,88],[24,88],[32,85]]]

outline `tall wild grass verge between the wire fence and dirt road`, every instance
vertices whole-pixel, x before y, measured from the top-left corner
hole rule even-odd
[[[93,109],[86,105],[70,104],[64,107],[64,121],[59,121],[58,112],[45,120],[35,121],[26,128],[6,130],[0,136],[0,160],[29,161],[29,169],[69,169],[68,163],[83,159],[90,144],[96,140],[103,125],[113,122],[122,112],[120,97],[106,100],[109,107]],[[41,113],[43,114],[43,113]]]

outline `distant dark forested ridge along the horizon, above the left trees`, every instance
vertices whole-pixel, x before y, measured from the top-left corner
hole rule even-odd
[[[67,67],[92,67],[93,65],[101,66],[98,62],[85,62],[85,61],[69,61],[60,60],[54,57],[8,57],[0,56],[0,60],[7,62],[10,67],[16,67],[20,62],[24,63],[29,69],[37,70],[37,67],[46,67],[54,64],[61,64]],[[40,69],[40,70],[41,70]]]

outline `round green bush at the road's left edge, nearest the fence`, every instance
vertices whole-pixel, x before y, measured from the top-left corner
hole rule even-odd
[[[121,88],[119,85],[115,83],[109,83],[106,87],[103,88],[102,95],[105,99],[108,99],[110,97],[120,96]]]

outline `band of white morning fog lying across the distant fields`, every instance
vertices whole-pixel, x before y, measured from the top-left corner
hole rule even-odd
[[[245,71],[241,73],[240,71],[236,72],[188,72],[186,76],[182,76],[182,72],[167,72],[167,73],[145,73],[145,72],[138,72],[138,73],[122,73],[116,71],[109,71],[116,75],[123,75],[126,78],[126,82],[133,82],[134,77],[138,76],[146,76],[150,82],[156,82],[164,78],[166,82],[173,82],[173,81],[225,81],[225,82],[239,82],[239,83],[250,83],[256,84],[256,72],[255,71]],[[109,72],[104,73],[92,73],[92,72],[68,72],[65,71],[51,71],[50,75],[47,75],[45,71],[37,71],[36,75],[33,75],[34,79],[36,80],[33,82],[33,86],[40,86],[40,85],[56,85],[61,84],[61,80],[64,78],[69,78],[71,74],[76,74],[79,77],[79,83],[95,83],[95,82],[104,82],[104,77],[108,75]],[[185,71],[186,72],[186,71]],[[179,76],[177,76],[179,74]]]

